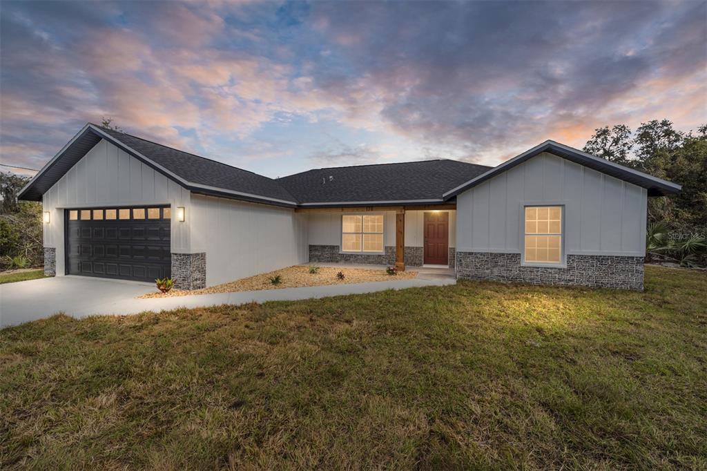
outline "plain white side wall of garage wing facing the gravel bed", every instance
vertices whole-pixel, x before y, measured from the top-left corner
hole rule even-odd
[[[206,286],[307,262],[307,215],[192,194],[192,252],[206,252]]]

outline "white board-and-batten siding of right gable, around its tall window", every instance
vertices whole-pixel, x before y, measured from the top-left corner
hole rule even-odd
[[[523,205],[559,204],[574,255],[645,255],[648,194],[564,158],[541,153],[457,196],[457,251],[520,253]]]

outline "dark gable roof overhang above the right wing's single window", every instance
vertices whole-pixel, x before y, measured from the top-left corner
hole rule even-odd
[[[661,178],[648,175],[648,173],[643,173],[638,170],[633,170],[632,168],[624,167],[624,165],[607,161],[604,158],[592,156],[589,153],[574,149],[570,146],[565,146],[559,142],[545,141],[542,144],[539,144],[538,146],[535,146],[504,163],[501,163],[501,165],[491,168],[491,170],[486,173],[478,175],[477,177],[462,183],[462,185],[445,192],[444,198],[451,199],[456,197],[457,194],[465,192],[480,183],[489,180],[489,178],[493,178],[506,170],[510,170],[510,168],[515,167],[515,165],[530,160],[543,152],[548,152],[555,156],[566,158],[568,161],[585,165],[585,167],[611,175],[619,180],[624,180],[626,182],[633,183],[633,185],[643,187],[648,190],[648,196],[665,196],[666,194],[674,194],[678,193],[682,188],[676,183],[668,182],[667,180],[662,180]]]

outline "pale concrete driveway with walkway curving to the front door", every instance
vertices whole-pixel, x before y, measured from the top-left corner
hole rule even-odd
[[[347,265],[346,267],[351,268],[352,266]],[[88,315],[96,314],[122,315],[141,313],[146,310],[198,308],[220,304],[243,304],[252,301],[257,303],[295,301],[345,294],[373,293],[386,289],[443,286],[456,283],[454,277],[444,270],[420,269],[419,272],[417,278],[399,281],[375,281],[153,299],[136,299],[136,296],[154,292],[153,284],[70,276],[34,279],[0,284],[0,327],[47,318],[59,312],[72,315],[75,318],[85,318]]]

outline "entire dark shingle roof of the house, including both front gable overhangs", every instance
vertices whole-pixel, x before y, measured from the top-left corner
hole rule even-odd
[[[680,186],[674,183],[604,161],[554,141],[546,141],[493,170],[486,165],[433,160],[317,168],[273,180],[131,134],[86,124],[30,180],[21,190],[19,198],[40,201],[42,195],[100,139],[121,146],[191,191],[286,207],[296,207],[298,204],[326,206],[327,203],[374,205],[390,202],[422,203],[424,200],[431,203],[443,202],[544,151],[647,188],[648,196],[680,191]]]

